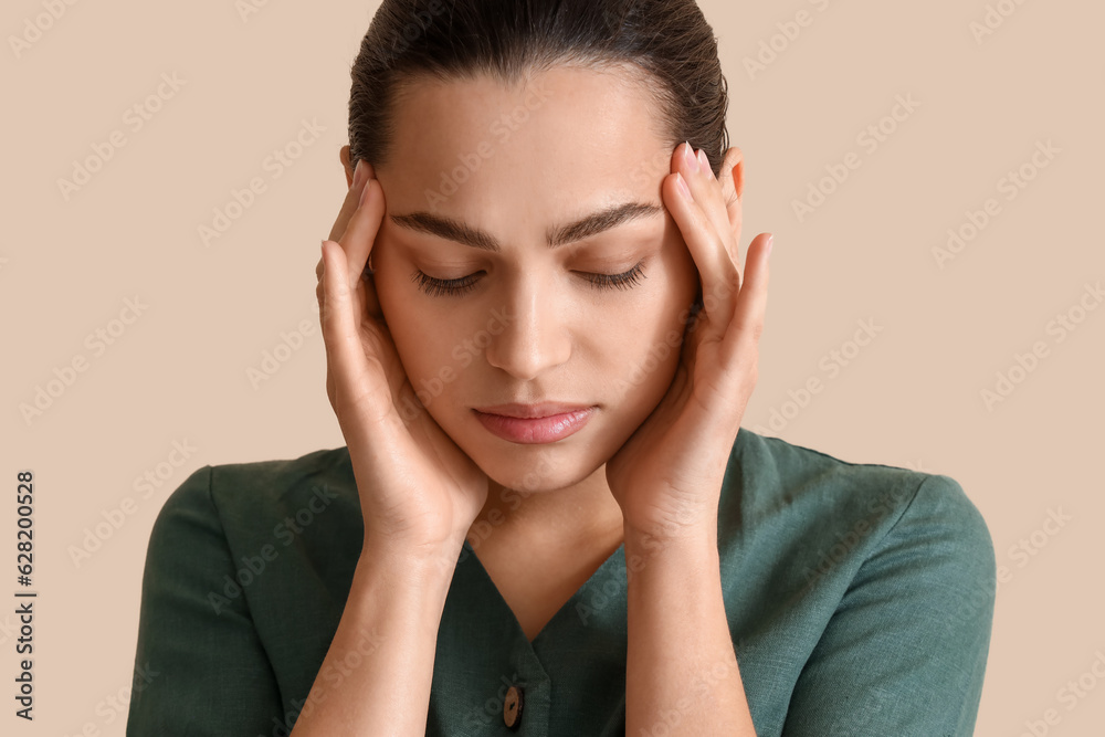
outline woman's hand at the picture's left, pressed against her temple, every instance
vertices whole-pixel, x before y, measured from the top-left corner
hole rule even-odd
[[[326,393],[349,449],[366,547],[452,556],[487,498],[487,476],[418,400],[365,274],[383,213],[383,189],[359,161],[316,269]],[[404,421],[398,408],[418,411]]]

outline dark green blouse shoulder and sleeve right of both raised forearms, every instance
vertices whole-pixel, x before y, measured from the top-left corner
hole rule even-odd
[[[969,734],[996,566],[986,522],[959,482],[741,429],[718,531],[757,726]]]

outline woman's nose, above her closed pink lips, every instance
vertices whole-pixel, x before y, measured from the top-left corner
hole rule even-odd
[[[519,380],[530,380],[571,355],[571,333],[555,289],[530,275],[512,287],[503,329],[486,348],[487,362]]]

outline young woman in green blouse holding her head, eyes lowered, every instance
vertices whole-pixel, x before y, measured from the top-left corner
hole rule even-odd
[[[969,735],[953,478],[740,428],[771,239],[693,0],[385,0],[318,273],[346,439],[206,466],[128,735]]]

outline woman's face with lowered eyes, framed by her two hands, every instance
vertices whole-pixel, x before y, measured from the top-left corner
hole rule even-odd
[[[508,488],[588,477],[678,362],[698,288],[661,194],[678,141],[657,136],[635,78],[420,81],[376,168],[387,212],[372,266],[399,357],[430,415]],[[503,438],[477,411],[546,401],[593,409],[552,442]]]

